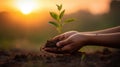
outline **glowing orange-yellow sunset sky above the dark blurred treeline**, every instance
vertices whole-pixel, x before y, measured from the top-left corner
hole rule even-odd
[[[30,4],[27,2],[30,2]],[[29,7],[32,7],[31,3],[37,6],[34,6],[34,9],[28,15],[25,15],[21,9],[27,11]],[[108,13],[110,3],[111,0],[0,0],[0,12],[12,12],[13,15],[10,18],[14,19],[15,22],[20,21],[21,25],[34,26],[43,25],[43,22],[47,23],[50,18],[49,11],[56,10],[56,4],[63,4],[63,8],[66,9],[65,14],[84,10],[93,15],[98,15]]]

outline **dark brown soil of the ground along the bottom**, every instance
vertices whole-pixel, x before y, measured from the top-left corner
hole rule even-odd
[[[120,51],[66,55],[23,49],[0,49],[0,67],[120,67]]]

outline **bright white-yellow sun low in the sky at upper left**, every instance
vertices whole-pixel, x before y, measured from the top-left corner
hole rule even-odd
[[[35,0],[18,0],[16,2],[16,7],[23,14],[30,14],[38,7],[38,3]]]

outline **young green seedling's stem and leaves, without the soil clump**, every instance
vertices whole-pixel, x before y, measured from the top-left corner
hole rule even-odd
[[[55,26],[56,30],[58,31],[58,33],[62,33],[63,30],[63,26],[67,23],[73,22],[74,19],[73,18],[69,18],[69,19],[65,19],[63,20],[63,16],[65,14],[65,9],[63,9],[62,4],[61,5],[56,5],[57,6],[57,10],[58,13],[56,12],[50,12],[50,16],[55,20],[55,21],[49,21],[50,24],[52,24],[53,26]]]

